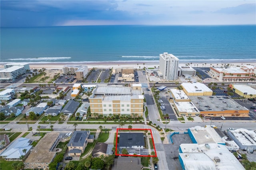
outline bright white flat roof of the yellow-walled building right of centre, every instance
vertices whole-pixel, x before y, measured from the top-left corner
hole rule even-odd
[[[188,93],[201,93],[202,91],[212,92],[212,90],[203,83],[182,83],[181,85],[188,91]]]

